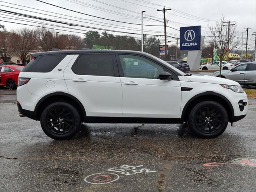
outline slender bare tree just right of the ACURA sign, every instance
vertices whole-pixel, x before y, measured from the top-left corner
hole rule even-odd
[[[221,77],[221,68],[222,61],[228,58],[228,54],[236,48],[240,43],[240,40],[236,37],[238,32],[236,31],[236,25],[228,28],[224,25],[224,17],[220,21],[217,21],[216,24],[208,26],[210,33],[208,34],[210,41],[214,42],[214,48],[220,60],[220,77]]]

